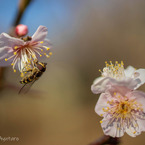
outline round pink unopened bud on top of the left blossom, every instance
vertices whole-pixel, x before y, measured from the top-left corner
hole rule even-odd
[[[28,33],[28,27],[26,25],[19,24],[15,28],[15,33],[19,37],[24,36]]]

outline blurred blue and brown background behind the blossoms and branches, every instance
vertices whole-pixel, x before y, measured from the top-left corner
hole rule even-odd
[[[19,0],[0,1],[0,33],[9,32]],[[6,145],[88,145],[103,135],[90,86],[105,61],[145,68],[144,0],[33,0],[21,23],[32,35],[48,28],[53,56],[27,94],[18,95],[19,74],[6,68],[0,92],[0,136]],[[145,91],[145,85],[140,88]],[[122,145],[144,145],[145,133]],[[0,144],[3,142],[0,141]]]

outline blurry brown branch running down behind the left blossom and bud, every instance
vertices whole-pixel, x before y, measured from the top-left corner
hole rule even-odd
[[[15,33],[14,33],[15,26],[17,26],[20,23],[21,18],[31,1],[32,0],[20,0],[17,15],[12,24],[12,28],[10,28],[10,31],[9,31],[9,34],[11,36],[15,36]],[[5,68],[0,68],[0,90],[2,90],[4,87],[4,71],[5,71]]]

